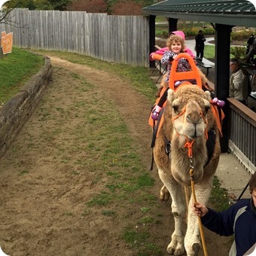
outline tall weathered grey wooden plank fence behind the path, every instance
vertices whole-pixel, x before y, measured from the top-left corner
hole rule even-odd
[[[17,47],[68,51],[149,67],[148,17],[19,8],[11,17],[15,26],[0,24],[0,32],[14,32]]]

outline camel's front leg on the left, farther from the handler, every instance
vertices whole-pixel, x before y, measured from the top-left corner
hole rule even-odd
[[[184,234],[185,234],[185,217],[186,204],[184,200],[184,190],[180,184],[170,175],[165,175],[159,170],[160,179],[169,190],[172,197],[172,215],[175,220],[175,230],[172,233],[172,240],[167,246],[169,254],[181,255],[184,254]]]

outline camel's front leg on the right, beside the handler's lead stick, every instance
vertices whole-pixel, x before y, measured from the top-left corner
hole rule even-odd
[[[198,184],[195,186],[197,202],[207,204],[212,189],[212,181],[205,184]],[[194,202],[191,196],[188,205],[187,215],[187,233],[184,239],[184,246],[187,251],[187,256],[196,256],[200,250],[200,229],[198,224],[198,217],[194,215],[192,211],[192,202]]]

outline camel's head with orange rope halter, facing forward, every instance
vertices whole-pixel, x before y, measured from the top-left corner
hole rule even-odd
[[[184,85],[175,92],[168,91],[172,106],[174,132],[188,139],[204,135],[207,129],[211,96],[194,84]]]

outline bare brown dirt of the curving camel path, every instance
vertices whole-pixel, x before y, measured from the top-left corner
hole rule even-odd
[[[139,96],[118,76],[73,64],[56,56],[50,56],[50,59],[53,82],[0,161],[0,246],[11,256],[135,255],[133,248],[120,239],[123,223],[119,220],[105,218],[101,212],[84,217],[74,214],[67,218],[71,211],[82,212],[84,202],[101,187],[93,185],[91,172],[74,177],[69,172],[72,166],[67,167],[56,157],[59,146],[72,148],[74,142],[72,136],[46,138],[47,130],[56,130],[53,121],[56,123],[57,120],[45,118],[44,110],[57,109],[59,104],[71,105],[74,99],[81,98],[75,87],[75,78],[70,74],[81,75],[96,85],[96,93],[104,93],[113,100],[138,143],[143,163],[149,166],[151,130],[148,127],[148,111],[152,102]],[[140,106],[140,111],[135,111],[136,105]],[[61,129],[72,130],[78,124],[79,113],[70,114],[69,122],[62,122]],[[75,152],[70,153],[71,156],[75,155]],[[161,183],[155,169],[151,176],[156,180],[152,193],[158,195]],[[155,243],[166,251],[173,230],[173,218],[169,203],[156,204],[161,213],[161,223],[158,230],[151,232],[156,238]],[[125,212],[129,207],[118,210]],[[130,218],[136,218],[136,209],[130,211],[134,212]],[[63,212],[66,215],[61,214]],[[230,238],[220,238],[208,230],[205,230],[205,234],[209,255],[228,255]],[[203,255],[202,250],[200,255]]]

